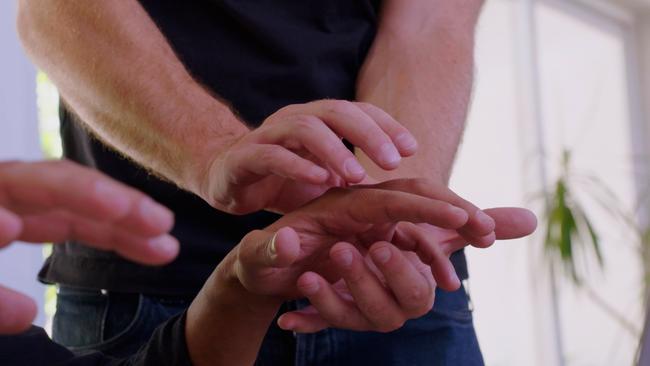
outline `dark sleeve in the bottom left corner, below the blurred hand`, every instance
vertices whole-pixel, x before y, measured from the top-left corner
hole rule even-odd
[[[19,335],[0,336],[3,366],[171,366],[192,363],[185,342],[185,313],[161,324],[133,356],[112,358],[99,352],[75,355],[52,341],[42,328]]]

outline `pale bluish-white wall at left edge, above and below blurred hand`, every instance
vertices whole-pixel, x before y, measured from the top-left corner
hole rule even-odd
[[[0,160],[41,157],[36,109],[36,71],[15,31],[16,1],[0,1]],[[44,287],[36,282],[42,247],[15,244],[0,252],[0,283],[37,300],[43,325]]]

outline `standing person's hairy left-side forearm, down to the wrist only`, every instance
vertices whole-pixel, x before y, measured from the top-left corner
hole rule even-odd
[[[206,161],[247,131],[135,0],[22,0],[18,29],[94,134],[183,188],[196,192]]]

